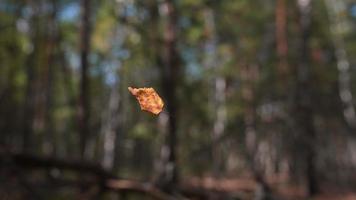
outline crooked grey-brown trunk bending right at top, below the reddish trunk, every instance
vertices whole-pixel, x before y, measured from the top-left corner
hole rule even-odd
[[[260,67],[265,63],[270,49],[274,44],[273,26],[267,25],[263,36],[263,42],[257,53],[256,64],[246,65],[241,70],[242,98],[245,103],[244,123],[245,123],[245,148],[247,164],[257,185],[255,188],[255,200],[273,199],[272,191],[264,179],[261,166],[256,162],[257,154],[257,113],[256,113],[256,88],[255,84],[259,79]]]

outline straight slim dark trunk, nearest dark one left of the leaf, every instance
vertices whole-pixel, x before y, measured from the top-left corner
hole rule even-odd
[[[89,129],[89,78],[88,78],[88,55],[90,50],[90,0],[81,0],[81,31],[80,31],[80,95],[79,95],[79,140],[80,155],[85,157],[87,146],[87,136],[90,135]]]

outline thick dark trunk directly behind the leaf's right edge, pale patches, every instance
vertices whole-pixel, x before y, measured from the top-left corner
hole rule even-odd
[[[177,51],[177,10],[173,0],[166,0],[162,6],[164,36],[160,62],[162,66],[162,85],[168,111],[168,131],[162,147],[161,167],[157,184],[167,192],[174,192],[178,182],[176,163],[177,148],[177,78],[180,59]]]

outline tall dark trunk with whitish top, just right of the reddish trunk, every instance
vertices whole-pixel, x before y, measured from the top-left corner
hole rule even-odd
[[[296,69],[296,94],[294,114],[298,130],[298,144],[302,152],[302,162],[305,164],[305,177],[309,196],[318,193],[316,179],[316,132],[313,125],[312,84],[309,61],[309,42],[311,33],[311,1],[298,0],[300,17],[300,47],[299,65]]]

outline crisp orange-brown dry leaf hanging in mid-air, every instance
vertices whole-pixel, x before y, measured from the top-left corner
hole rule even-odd
[[[164,103],[153,88],[132,88],[128,87],[132,95],[138,100],[141,110],[158,115],[164,106]]]

